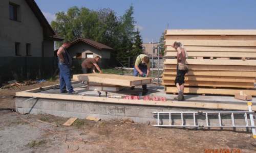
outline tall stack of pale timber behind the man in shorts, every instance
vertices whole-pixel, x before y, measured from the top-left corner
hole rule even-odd
[[[256,30],[165,30],[165,56],[177,56],[171,46],[180,41],[187,50],[189,72],[184,93],[256,95]],[[177,59],[164,59],[166,93],[174,84]]]

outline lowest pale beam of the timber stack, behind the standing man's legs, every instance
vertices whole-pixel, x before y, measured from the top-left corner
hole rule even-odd
[[[252,89],[240,89],[240,88],[206,88],[206,87],[185,87],[184,93],[192,94],[220,94],[220,95],[235,95],[243,91],[244,94],[256,96],[255,88]],[[165,86],[166,93],[178,93],[176,86]]]

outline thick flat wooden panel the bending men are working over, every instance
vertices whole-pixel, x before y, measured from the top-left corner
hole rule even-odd
[[[119,86],[137,86],[152,83],[152,78],[99,73],[76,74],[73,75],[73,79]]]

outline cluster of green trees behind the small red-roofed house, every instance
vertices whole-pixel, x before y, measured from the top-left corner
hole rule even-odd
[[[68,9],[67,14],[63,11],[56,13],[56,20],[51,22],[51,27],[71,42],[83,37],[112,47],[115,49],[111,52],[112,57],[117,57],[127,66],[135,34],[133,13],[133,6],[119,18],[109,8],[93,11],[74,6]],[[56,43],[56,46],[61,46],[61,42]]]

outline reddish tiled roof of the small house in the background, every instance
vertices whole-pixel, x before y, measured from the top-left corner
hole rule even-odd
[[[87,43],[87,44],[89,44],[89,45],[91,45],[91,46],[94,46],[94,47],[100,49],[100,50],[103,49],[103,48],[104,48],[104,49],[111,49],[111,50],[114,50],[113,48],[111,48],[111,47],[109,47],[109,46],[106,46],[106,45],[104,45],[104,44],[102,44],[102,43],[99,43],[99,42],[97,42],[97,41],[94,41],[94,40],[91,40],[91,39],[87,39],[87,38],[78,38],[78,39],[72,41],[70,46],[72,46],[72,45],[74,45],[74,44],[76,44],[76,43],[78,43],[78,42]]]

